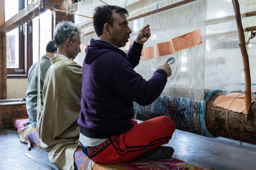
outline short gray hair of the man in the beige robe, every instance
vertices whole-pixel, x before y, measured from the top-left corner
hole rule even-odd
[[[59,22],[56,25],[54,32],[54,43],[55,45],[64,45],[65,41],[70,38],[72,41],[76,41],[80,34],[80,29],[73,22],[67,22],[65,20]]]

